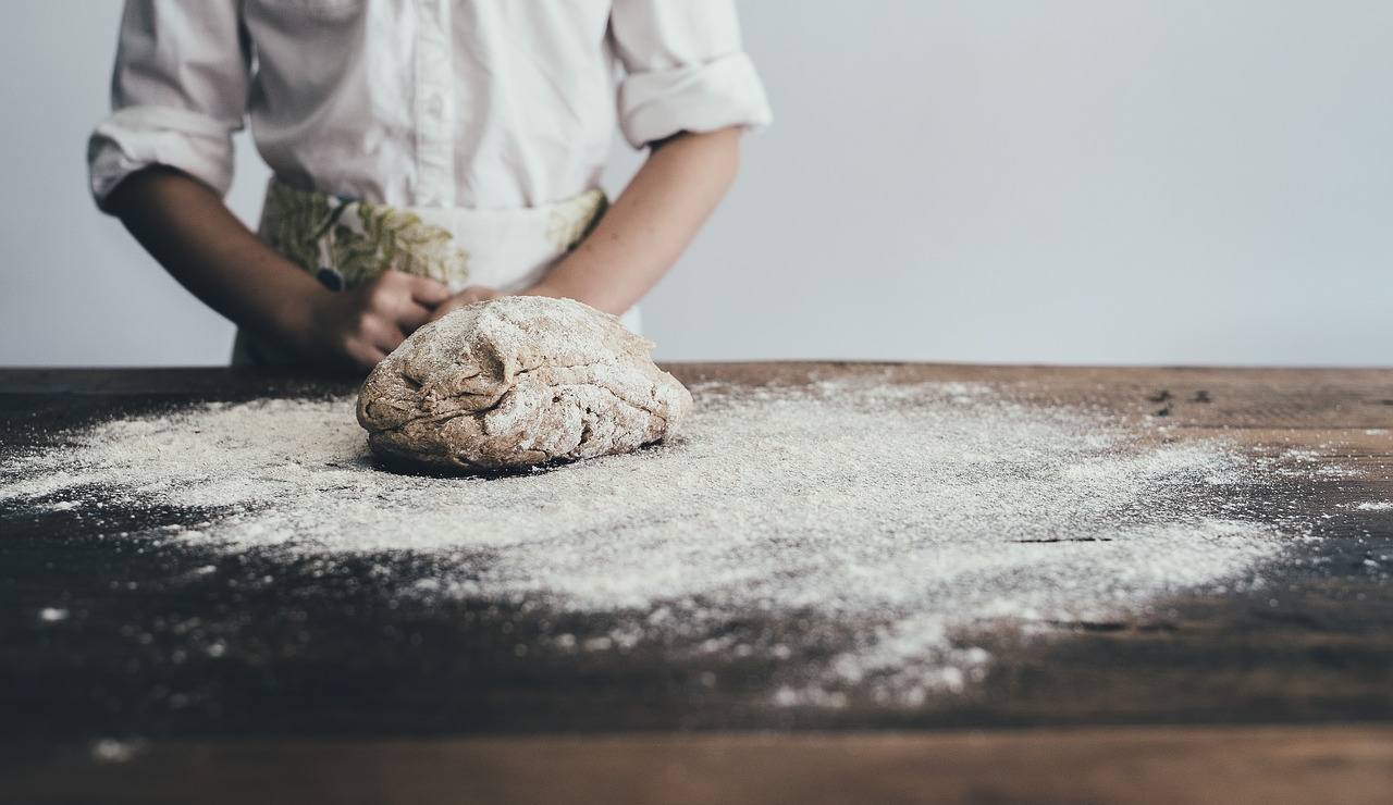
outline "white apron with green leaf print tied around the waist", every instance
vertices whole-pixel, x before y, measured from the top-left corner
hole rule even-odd
[[[486,286],[521,291],[540,280],[599,223],[609,201],[592,189],[535,208],[394,208],[341,199],[273,178],[259,237],[332,291],[354,288],[387,269],[437,280],[451,291]],[[620,322],[639,329],[638,308]],[[273,341],[237,331],[233,365],[293,365]]]

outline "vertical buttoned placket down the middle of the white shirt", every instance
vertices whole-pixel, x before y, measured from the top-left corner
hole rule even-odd
[[[417,0],[415,116],[419,206],[454,206],[450,0]]]

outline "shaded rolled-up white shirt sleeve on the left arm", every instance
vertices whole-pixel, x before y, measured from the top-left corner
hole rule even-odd
[[[251,45],[240,0],[127,0],[111,75],[113,114],[88,141],[92,195],[163,164],[226,194],[242,128]]]

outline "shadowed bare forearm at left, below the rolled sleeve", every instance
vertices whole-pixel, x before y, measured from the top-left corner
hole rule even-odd
[[[127,178],[107,209],[180,284],[242,327],[274,336],[302,329],[305,301],[326,292],[180,171],[156,167]]]

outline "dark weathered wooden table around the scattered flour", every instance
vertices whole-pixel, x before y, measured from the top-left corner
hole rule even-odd
[[[1393,500],[1393,370],[671,370],[738,384],[983,382],[1027,401],[1165,419],[1173,439],[1217,433],[1360,472],[1273,485],[1316,539],[1265,591],[993,645],[981,689],[912,710],[775,710],[738,681],[698,689],[702,667],[662,656],[529,666],[504,650],[515,635],[497,639],[501,616],[382,606],[371,560],[293,600],[280,591],[306,568],[277,565],[284,585],[176,586],[167,579],[231,560],[99,535],[188,513],[110,507],[79,519],[0,504],[0,801],[1393,801],[1393,511],[1353,506]],[[107,416],[351,389],[224,369],[0,370],[0,460]],[[241,561],[248,578],[269,570]],[[113,578],[138,584],[116,589]],[[53,600],[84,617],[40,628],[36,611]],[[176,618],[237,618],[259,650],[146,662]],[[123,636],[132,624],[149,645]],[[174,706],[171,691],[196,692],[199,706]],[[131,735],[93,752],[99,738]],[[124,762],[98,759],[132,747]]]

